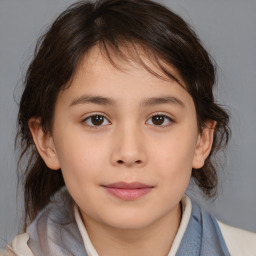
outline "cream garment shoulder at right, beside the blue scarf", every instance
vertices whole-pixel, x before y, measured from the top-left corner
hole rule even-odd
[[[256,234],[229,226],[217,220],[230,254],[233,256],[256,255]]]

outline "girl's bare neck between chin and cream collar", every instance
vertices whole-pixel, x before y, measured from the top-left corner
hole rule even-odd
[[[92,244],[99,256],[167,256],[181,221],[181,207],[177,207],[139,229],[117,229],[99,224],[83,215],[84,223]]]

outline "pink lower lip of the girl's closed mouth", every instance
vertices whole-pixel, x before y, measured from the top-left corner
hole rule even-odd
[[[152,187],[134,188],[134,189],[121,189],[121,188],[109,188],[109,187],[104,187],[104,188],[111,195],[126,201],[138,199],[148,194],[153,189]]]

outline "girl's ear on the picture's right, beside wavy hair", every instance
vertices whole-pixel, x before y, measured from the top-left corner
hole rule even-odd
[[[205,159],[211,152],[215,126],[216,121],[207,121],[202,132],[198,135],[195,155],[192,164],[192,167],[194,169],[202,168],[204,166]]]

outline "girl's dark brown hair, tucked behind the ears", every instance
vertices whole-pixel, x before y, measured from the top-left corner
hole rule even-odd
[[[71,81],[79,60],[95,45],[114,65],[113,53],[124,61],[135,56],[133,59],[149,69],[139,57],[140,47],[166,75],[180,83],[163,63],[177,70],[194,100],[199,131],[207,120],[217,121],[211,153],[205,165],[192,172],[206,195],[216,192],[213,156],[229,140],[229,116],[215,103],[215,68],[194,31],[178,15],[149,0],[81,1],[64,11],[38,40],[25,77],[17,133],[22,147],[20,160],[28,155],[23,173],[25,227],[64,186],[61,171],[51,171],[38,154],[28,121],[40,117],[44,131],[51,132],[58,93]]]

